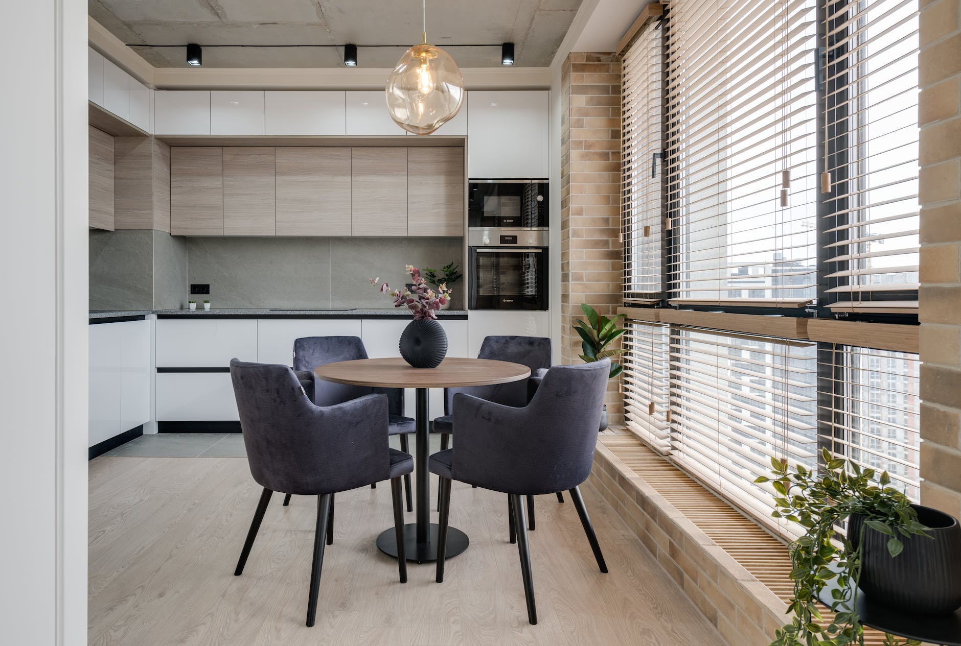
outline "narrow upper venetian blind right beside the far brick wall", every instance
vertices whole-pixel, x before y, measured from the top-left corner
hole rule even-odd
[[[658,301],[663,292],[662,34],[648,24],[622,60],[624,295],[633,301]]]

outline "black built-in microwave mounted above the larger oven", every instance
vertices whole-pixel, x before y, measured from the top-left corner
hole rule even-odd
[[[471,179],[467,186],[467,226],[547,227],[547,187],[547,181],[540,179]]]

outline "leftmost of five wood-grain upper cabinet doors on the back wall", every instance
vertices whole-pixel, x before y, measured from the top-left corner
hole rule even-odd
[[[223,149],[170,149],[170,233],[224,234]]]

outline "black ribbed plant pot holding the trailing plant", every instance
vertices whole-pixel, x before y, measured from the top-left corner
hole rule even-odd
[[[961,608],[961,525],[930,507],[912,505],[931,529],[923,536],[899,536],[904,550],[892,558],[889,536],[864,529],[860,588],[872,601],[920,614],[949,614]],[[863,516],[852,515],[848,538],[856,546]]]

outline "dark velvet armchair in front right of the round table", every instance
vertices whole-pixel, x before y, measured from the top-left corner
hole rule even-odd
[[[430,463],[431,472],[440,476],[438,583],[444,580],[453,480],[507,494],[531,624],[537,623],[537,611],[521,496],[568,490],[598,567],[607,571],[579,485],[587,479],[594,462],[608,371],[609,359],[556,366],[544,374],[540,387],[524,407],[456,395],[456,443],[454,448],[433,454]]]

